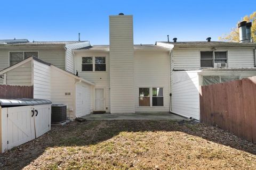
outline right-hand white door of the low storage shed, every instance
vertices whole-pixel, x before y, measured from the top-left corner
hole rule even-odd
[[[50,130],[51,117],[49,105],[36,105],[35,110],[35,132],[36,138]]]

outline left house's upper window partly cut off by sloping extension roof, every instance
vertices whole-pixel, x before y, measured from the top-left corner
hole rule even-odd
[[[38,52],[10,52],[10,66],[31,56],[38,58]]]

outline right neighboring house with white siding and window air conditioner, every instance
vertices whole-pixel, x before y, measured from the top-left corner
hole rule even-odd
[[[256,43],[157,42],[172,49],[171,112],[199,120],[199,86],[256,75]]]

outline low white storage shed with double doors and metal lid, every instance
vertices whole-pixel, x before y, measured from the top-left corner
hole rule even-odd
[[[0,99],[1,152],[50,131],[51,103],[45,99]]]

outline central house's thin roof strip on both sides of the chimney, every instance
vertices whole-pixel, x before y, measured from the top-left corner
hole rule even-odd
[[[153,44],[134,45],[133,48],[134,50],[170,50],[169,48],[153,45]],[[109,45],[94,45],[89,47],[78,48],[75,51],[79,51],[79,50],[109,52]]]

